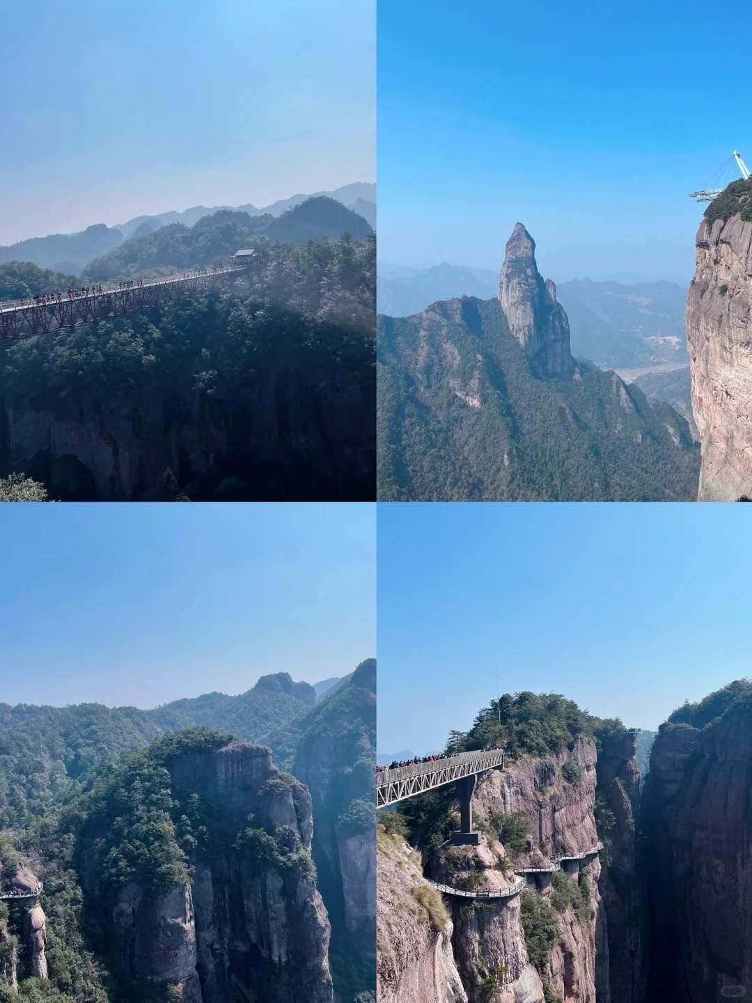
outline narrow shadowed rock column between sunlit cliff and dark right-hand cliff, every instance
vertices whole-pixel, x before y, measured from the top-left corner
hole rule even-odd
[[[613,815],[599,891],[599,1003],[641,1003],[647,979],[646,887],[638,855],[640,767],[637,735],[618,732],[598,757],[597,801]]]

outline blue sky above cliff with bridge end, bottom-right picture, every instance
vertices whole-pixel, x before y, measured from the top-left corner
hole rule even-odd
[[[744,505],[381,505],[378,744],[443,746],[501,692],[657,728],[752,675]]]

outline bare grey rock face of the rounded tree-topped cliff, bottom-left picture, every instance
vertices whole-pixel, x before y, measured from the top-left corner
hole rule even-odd
[[[173,789],[199,798],[210,830],[209,847],[192,861],[192,883],[155,891],[131,881],[113,898],[100,885],[95,853],[84,862],[84,887],[103,906],[121,983],[144,999],[171,992],[183,1003],[331,1003],[329,921],[312,869],[243,839],[250,821],[279,826],[307,858],[306,788],[279,773],[266,746],[249,742],[181,754],[168,768]]]

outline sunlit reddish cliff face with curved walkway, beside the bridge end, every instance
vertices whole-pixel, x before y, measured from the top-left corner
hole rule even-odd
[[[481,845],[471,855],[463,851],[474,858],[468,861],[467,873],[482,874],[478,887],[504,887],[514,880],[514,868],[541,866],[561,854],[578,855],[596,846],[596,758],[595,743],[578,739],[571,753],[512,762],[478,784],[473,801],[478,827],[483,829]],[[568,759],[581,771],[576,784],[561,775]],[[530,823],[526,846],[515,854],[495,839],[492,816],[498,811],[521,812]],[[453,855],[444,851],[444,859],[447,853]],[[589,889],[590,905],[584,919],[571,906],[557,911],[558,937],[537,970],[525,946],[520,897],[491,909],[480,904],[455,907],[452,943],[470,1003],[488,998],[494,1003],[538,1003],[545,998],[545,983],[562,1000],[595,1003],[600,869],[594,856],[558,873],[557,882]],[[552,894],[551,875],[532,879],[523,893],[546,903]],[[502,974],[496,976],[495,992],[489,997],[493,972]]]

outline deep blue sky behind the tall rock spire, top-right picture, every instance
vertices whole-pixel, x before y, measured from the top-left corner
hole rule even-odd
[[[688,282],[751,47],[744,4],[380,0],[381,258],[497,269],[519,220],[555,281]]]

